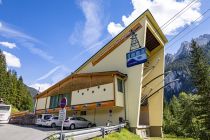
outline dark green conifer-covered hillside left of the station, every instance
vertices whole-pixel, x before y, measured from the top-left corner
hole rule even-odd
[[[30,92],[14,70],[7,70],[5,56],[0,50],[0,98],[18,110],[32,110],[33,101]]]

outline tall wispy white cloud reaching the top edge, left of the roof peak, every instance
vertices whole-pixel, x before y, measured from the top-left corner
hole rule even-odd
[[[79,43],[86,49],[100,41],[103,31],[101,3],[96,0],[81,0],[79,6],[85,16],[84,23],[77,23],[70,35],[72,45]]]

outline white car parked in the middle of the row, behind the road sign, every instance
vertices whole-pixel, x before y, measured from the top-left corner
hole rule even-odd
[[[42,126],[48,126],[48,127],[55,128],[57,126],[61,126],[61,121],[58,120],[58,116],[52,116],[49,119],[47,119],[46,121],[44,121],[42,123]]]

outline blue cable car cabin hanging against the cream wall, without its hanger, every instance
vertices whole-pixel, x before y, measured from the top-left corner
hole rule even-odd
[[[127,67],[132,67],[147,61],[146,48],[139,48],[126,54]]]

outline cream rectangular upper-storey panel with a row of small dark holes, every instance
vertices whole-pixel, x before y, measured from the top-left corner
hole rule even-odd
[[[105,91],[104,91],[105,89]],[[94,91],[94,93],[93,93]],[[114,100],[113,83],[72,91],[71,105]]]

